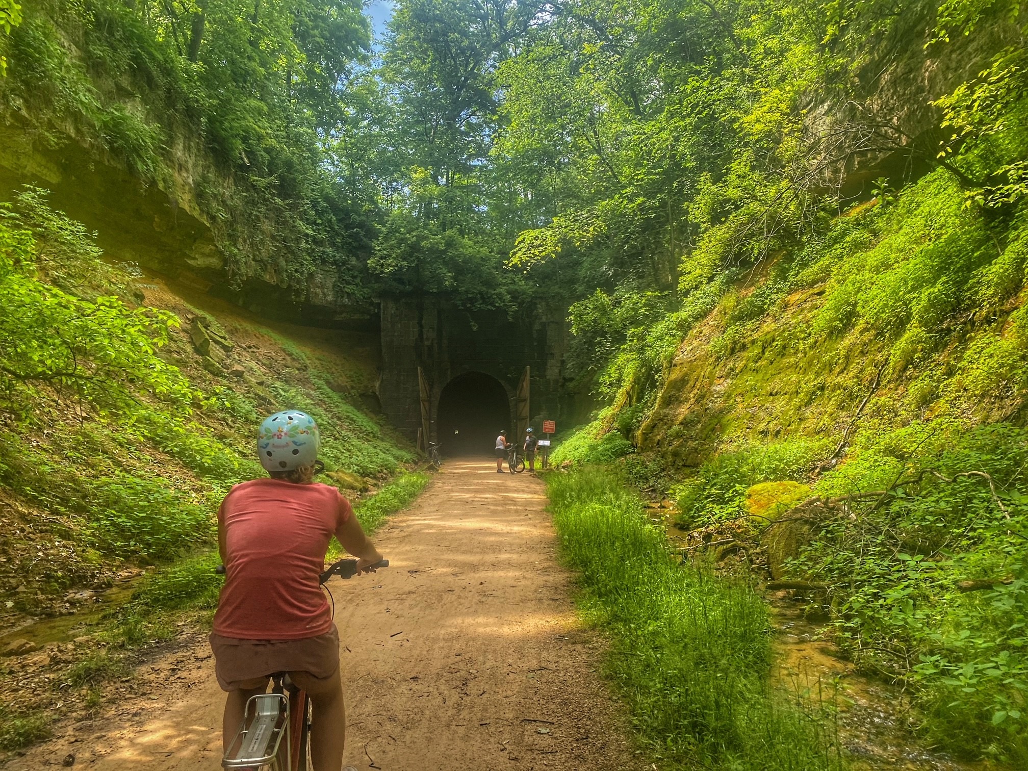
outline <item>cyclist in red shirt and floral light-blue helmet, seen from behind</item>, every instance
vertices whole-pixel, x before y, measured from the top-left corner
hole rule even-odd
[[[260,425],[257,453],[268,477],[236,484],[218,509],[225,584],[211,649],[228,694],[226,750],[247,700],[266,690],[271,672],[286,671],[314,702],[314,767],[339,771],[346,727],[339,633],[319,578],[332,536],[358,557],[358,572],[373,570],[382,556],[339,490],[313,481],[320,443],[318,425],[297,409]]]

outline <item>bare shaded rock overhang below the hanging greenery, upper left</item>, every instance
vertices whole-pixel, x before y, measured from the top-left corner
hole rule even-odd
[[[187,139],[172,148],[175,161],[161,170],[159,181],[147,184],[74,133],[54,142],[22,116],[5,117],[0,199],[10,199],[23,185],[47,189],[54,208],[97,231],[111,259],[138,263],[251,310],[316,325],[374,326],[374,306],[338,288],[335,266],[315,265],[297,281],[273,249],[232,245],[226,223],[210,214],[200,191],[213,181],[230,192],[237,181],[217,171]]]

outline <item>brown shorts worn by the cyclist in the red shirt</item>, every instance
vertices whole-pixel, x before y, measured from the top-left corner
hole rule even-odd
[[[327,680],[339,668],[339,632],[332,630],[303,639],[236,639],[211,634],[214,673],[222,691],[272,672],[309,672]]]

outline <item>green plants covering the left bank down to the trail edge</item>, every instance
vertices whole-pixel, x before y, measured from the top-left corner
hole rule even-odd
[[[141,304],[138,277],[102,261],[94,234],[42,191],[0,214],[0,304],[11,310],[0,318],[5,626],[70,613],[69,590],[149,568],[127,600],[86,617],[78,641],[58,642],[48,674],[31,670],[37,688],[12,695],[0,747],[14,749],[45,736],[60,711],[99,706],[147,647],[209,621],[221,585],[214,513],[232,484],[263,475],[252,454],[262,413],[302,406],[322,421],[329,469],[380,487],[356,503],[371,528],[427,475],[404,473],[410,449],[333,390],[369,379],[352,363],[238,320],[223,326],[174,297],[172,307]],[[200,355],[183,316],[224,366]],[[0,674],[11,666],[0,661]]]

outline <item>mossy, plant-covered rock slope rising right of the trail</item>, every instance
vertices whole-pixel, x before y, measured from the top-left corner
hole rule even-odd
[[[857,431],[1023,421],[1028,231],[996,244],[963,201],[937,170],[728,292],[678,346],[637,445],[696,467],[805,436],[835,462]]]

